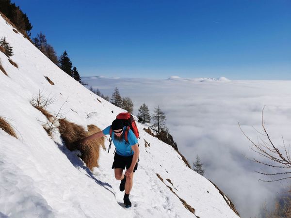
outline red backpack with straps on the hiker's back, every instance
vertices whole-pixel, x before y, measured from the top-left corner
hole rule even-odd
[[[134,133],[134,135],[136,136],[137,139],[139,139],[139,132],[137,129],[137,125],[135,123],[135,120],[133,119],[133,116],[130,113],[119,113],[116,116],[116,119],[121,120],[124,126],[127,126],[124,132],[124,139],[126,142],[128,142],[128,134],[129,134],[129,129],[131,129],[131,131]],[[110,127],[109,130],[109,134],[110,134],[110,145],[108,148],[108,153],[109,153],[109,149],[111,147],[111,142],[112,142],[112,127]]]

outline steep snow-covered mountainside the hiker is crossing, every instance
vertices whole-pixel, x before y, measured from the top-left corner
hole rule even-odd
[[[133,206],[124,208],[111,169],[114,149],[108,154],[101,148],[99,167],[91,172],[78,151],[65,147],[57,127],[48,135],[43,128],[47,118],[30,100],[38,93],[53,98],[46,108],[50,114],[60,111],[58,118],[85,129],[91,124],[103,129],[124,110],[91,93],[13,29],[0,16],[0,38],[5,36],[13,47],[11,60],[18,66],[0,52],[8,75],[0,70],[0,117],[17,136],[0,129],[0,217],[238,217],[218,188],[141,124],[140,162],[130,193]]]

